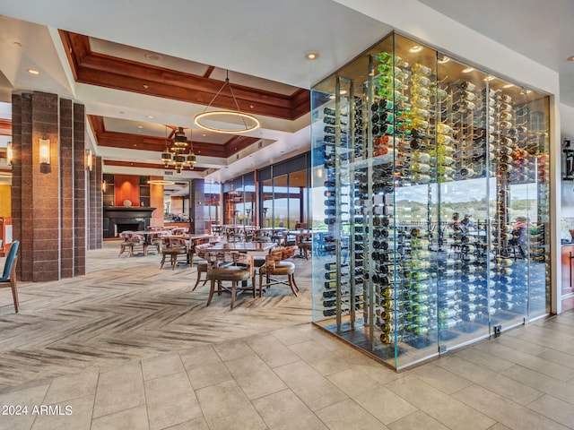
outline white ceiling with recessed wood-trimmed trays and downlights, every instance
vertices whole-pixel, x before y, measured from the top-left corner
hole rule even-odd
[[[110,173],[161,175],[166,132],[184,126],[198,161],[182,177],[224,180],[309,150],[309,88],[393,30],[353,10],[369,1],[4,0],[0,100],[44,90],[83,103],[88,140]],[[413,3],[558,71],[561,102],[574,106],[572,0]],[[399,4],[380,7],[392,14]],[[262,123],[244,136],[193,125],[228,71],[239,106]]]

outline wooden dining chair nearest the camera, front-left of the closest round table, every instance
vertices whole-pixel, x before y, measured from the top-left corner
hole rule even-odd
[[[223,289],[231,293],[231,309],[233,309],[235,305],[235,299],[238,293],[252,291],[253,297],[256,297],[255,271],[253,270],[253,257],[251,255],[235,251],[228,253],[206,251],[205,260],[207,261],[207,279],[211,280],[211,288],[206,306],[212,303],[213,294],[215,292],[215,281],[217,281],[218,285],[218,296],[222,294]],[[247,284],[248,280],[251,280],[250,286]],[[231,288],[224,288],[222,286],[222,282],[224,281],[230,281]],[[242,283],[241,287],[238,286],[239,282]]]

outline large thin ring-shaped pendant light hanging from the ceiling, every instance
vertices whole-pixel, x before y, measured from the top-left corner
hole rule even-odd
[[[213,110],[213,101],[217,99],[225,87],[229,87],[230,89],[231,98],[235,104],[235,110]],[[225,82],[223,82],[222,88],[217,91],[217,94],[215,94],[212,101],[209,102],[209,105],[205,107],[204,111],[201,114],[196,115],[194,121],[198,127],[216,133],[246,133],[256,130],[260,126],[259,120],[255,116],[246,114],[245,112],[242,112],[241,109],[239,109],[239,104],[235,98],[233,89],[231,88],[229,70],[227,71]],[[213,124],[208,124],[210,121]],[[217,125],[218,123],[225,123],[230,126],[222,128],[221,126]]]

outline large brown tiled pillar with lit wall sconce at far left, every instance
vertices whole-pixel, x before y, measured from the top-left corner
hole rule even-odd
[[[21,280],[85,273],[84,127],[83,105],[44,92],[13,94],[13,236],[21,241]],[[39,163],[40,139],[50,141],[48,166]]]

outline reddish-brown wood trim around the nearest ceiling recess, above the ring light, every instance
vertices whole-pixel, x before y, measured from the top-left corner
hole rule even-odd
[[[90,39],[81,34],[60,30],[60,36],[76,82],[203,106],[208,106],[222,88],[222,81],[209,77],[92,52]],[[208,69],[205,74],[211,72]],[[238,84],[232,86],[239,108],[252,115],[293,121],[310,110],[309,90],[299,89],[288,96]],[[213,107],[237,108],[230,95],[220,94],[213,101]]]

